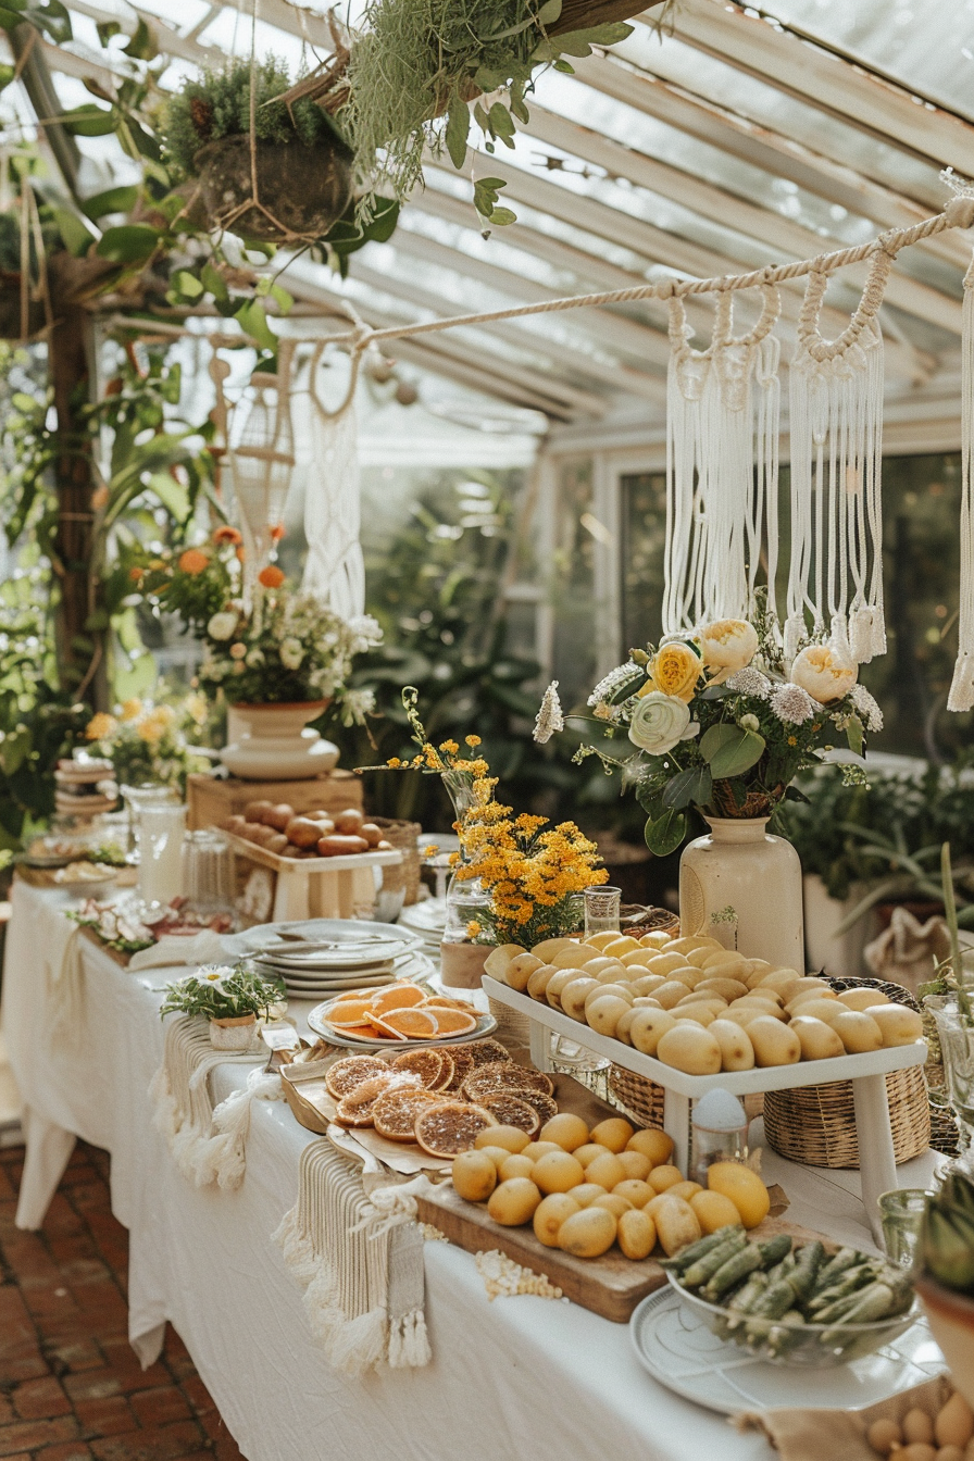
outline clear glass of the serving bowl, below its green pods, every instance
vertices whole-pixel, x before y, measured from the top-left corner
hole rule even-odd
[[[707,1303],[683,1289],[673,1274],[666,1275],[680,1297],[683,1308],[707,1325],[711,1334],[739,1344],[755,1359],[770,1365],[793,1365],[808,1369],[834,1369],[873,1354],[892,1343],[920,1318],[916,1299],[904,1313],[873,1324],[783,1324],[781,1319],[735,1315],[717,1303]]]

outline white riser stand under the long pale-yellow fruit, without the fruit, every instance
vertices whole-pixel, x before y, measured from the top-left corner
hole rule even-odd
[[[853,1106],[856,1110],[856,1135],[859,1138],[859,1161],[863,1185],[863,1205],[869,1226],[882,1246],[882,1224],[879,1221],[879,1195],[897,1186],[897,1163],[889,1128],[889,1103],[886,1100],[886,1075],[891,1071],[905,1071],[911,1065],[924,1065],[926,1042],[897,1045],[889,1050],[873,1050],[869,1055],[843,1055],[829,1061],[800,1061],[797,1065],[765,1065],[752,1071],[721,1071],[720,1075],[686,1075],[673,1069],[651,1055],[634,1050],[607,1034],[597,1034],[587,1024],[572,1020],[561,1010],[552,1010],[529,995],[517,993],[507,985],[485,974],[483,991],[491,999],[510,1005],[532,1021],[532,1061],[539,1069],[551,1067],[549,1031],[581,1042],[586,1049],[596,1050],[607,1059],[637,1075],[645,1075],[666,1091],[663,1106],[663,1129],[673,1138],[673,1160],[683,1172],[689,1159],[691,1102],[708,1090],[721,1087],[735,1096],[749,1096],[759,1091],[796,1090],[800,1086],[825,1086],[828,1081],[853,1083]]]

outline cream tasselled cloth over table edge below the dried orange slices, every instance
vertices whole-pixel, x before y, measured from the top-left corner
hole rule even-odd
[[[361,1166],[327,1140],[301,1154],[296,1204],[272,1235],[304,1286],[308,1327],[329,1363],[364,1375],[432,1359],[423,1306],[423,1239],[415,1192],[426,1178],[367,1197]]]

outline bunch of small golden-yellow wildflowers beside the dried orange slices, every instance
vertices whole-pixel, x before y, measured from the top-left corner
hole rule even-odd
[[[456,824],[461,850],[454,877],[479,878],[491,896],[478,937],[530,948],[542,938],[572,932],[581,920],[578,894],[609,874],[597,866],[594,842],[574,823],[549,828],[546,817],[514,817],[494,801],[495,786],[494,777],[473,783],[473,805]]]

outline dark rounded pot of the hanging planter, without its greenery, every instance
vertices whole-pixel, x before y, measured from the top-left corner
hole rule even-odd
[[[256,177],[248,134],[207,142],[196,153],[209,226],[266,244],[312,241],[352,199],[352,152],[336,139],[257,142]]]

